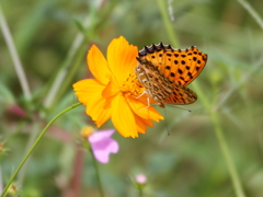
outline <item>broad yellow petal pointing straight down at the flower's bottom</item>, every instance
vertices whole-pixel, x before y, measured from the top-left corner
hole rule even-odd
[[[114,96],[112,108],[112,121],[117,131],[124,137],[138,137],[133,109],[129,107],[122,93]]]

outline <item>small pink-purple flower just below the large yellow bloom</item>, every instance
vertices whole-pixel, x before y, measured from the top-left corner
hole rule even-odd
[[[101,163],[108,163],[110,154],[117,153],[118,143],[111,138],[114,129],[93,132],[88,137],[95,159]]]

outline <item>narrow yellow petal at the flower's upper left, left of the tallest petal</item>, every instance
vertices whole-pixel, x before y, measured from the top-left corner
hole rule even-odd
[[[101,83],[107,84],[110,81],[108,77],[111,76],[107,61],[95,45],[92,45],[89,50],[87,55],[87,62],[94,78],[96,78]]]

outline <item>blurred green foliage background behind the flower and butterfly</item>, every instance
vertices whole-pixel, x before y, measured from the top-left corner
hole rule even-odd
[[[31,97],[22,91],[1,33],[0,142],[8,149],[0,154],[4,183],[47,121],[77,102],[71,84],[91,78],[85,63],[91,44],[105,54],[110,42],[123,35],[139,49],[178,39],[175,48],[195,45],[208,54],[208,61],[188,86],[199,96],[183,106],[192,113],[168,106],[168,127],[165,121],[155,124],[137,139],[114,135],[119,152],[111,155],[108,164],[99,164],[105,196],[138,196],[129,179],[137,173],[148,176],[147,197],[236,196],[220,134],[245,196],[263,196],[262,20],[253,18],[241,0],[163,0],[171,37],[160,1],[1,1]],[[263,18],[263,1],[248,2]],[[14,106],[24,114],[15,114]],[[164,115],[162,108],[158,111]],[[79,106],[52,126],[15,181],[20,196],[100,196],[91,155],[79,144],[85,125],[94,126],[84,106]],[[102,128],[112,127],[108,121]]]

